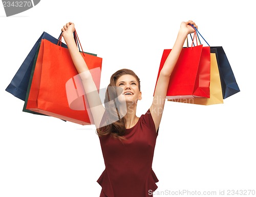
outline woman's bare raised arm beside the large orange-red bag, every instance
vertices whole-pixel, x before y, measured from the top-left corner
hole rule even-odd
[[[86,92],[88,103],[93,116],[94,124],[96,128],[99,128],[100,121],[105,109],[100,101],[97,87],[93,81],[93,78],[88,69],[88,66],[84,61],[84,59],[82,58],[76,46],[76,43],[73,37],[73,32],[75,31],[74,23],[72,22],[67,23],[65,26],[63,26],[61,31],[62,31],[62,36],[65,39],[65,42],[68,46],[73,63],[77,69],[77,72],[81,77],[84,91]]]

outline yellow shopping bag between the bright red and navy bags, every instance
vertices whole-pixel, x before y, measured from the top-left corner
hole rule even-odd
[[[167,100],[180,103],[198,104],[198,105],[214,105],[223,104],[222,88],[220,73],[215,53],[210,54],[210,97],[209,98],[189,98]]]

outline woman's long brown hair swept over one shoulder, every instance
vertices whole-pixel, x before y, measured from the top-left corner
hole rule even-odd
[[[108,88],[106,89],[106,93],[105,93],[105,100],[104,100],[105,113],[101,121],[101,125],[103,126],[102,127],[100,126],[100,128],[96,130],[98,136],[104,136],[104,135],[110,134],[114,138],[124,139],[124,137],[122,136],[125,134],[125,118],[124,118],[124,115],[120,113],[120,110],[118,110],[117,106],[120,106],[120,104],[116,99],[118,96],[117,90],[116,90],[116,81],[122,75],[134,76],[138,81],[138,86],[140,90],[140,79],[134,73],[133,70],[120,69],[111,76],[110,84],[108,85]]]

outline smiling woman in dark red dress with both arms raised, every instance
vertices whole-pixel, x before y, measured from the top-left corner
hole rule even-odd
[[[176,42],[160,72],[153,103],[140,117],[136,116],[137,101],[141,100],[138,76],[129,69],[116,71],[110,79],[104,107],[99,95],[92,93],[97,88],[74,41],[74,23],[69,22],[61,29],[92,106],[100,139],[105,163],[97,181],[102,187],[100,197],[148,197],[157,189],[158,179],[152,170],[156,138],[170,75],[187,35],[195,31],[189,24],[197,28],[191,20],[181,23]]]

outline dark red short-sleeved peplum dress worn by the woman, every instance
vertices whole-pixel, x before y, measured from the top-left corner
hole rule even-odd
[[[100,197],[149,197],[157,189],[152,169],[158,132],[148,110],[137,124],[126,129],[125,140],[99,137],[105,170],[97,180]],[[150,190],[150,192],[148,192]]]

